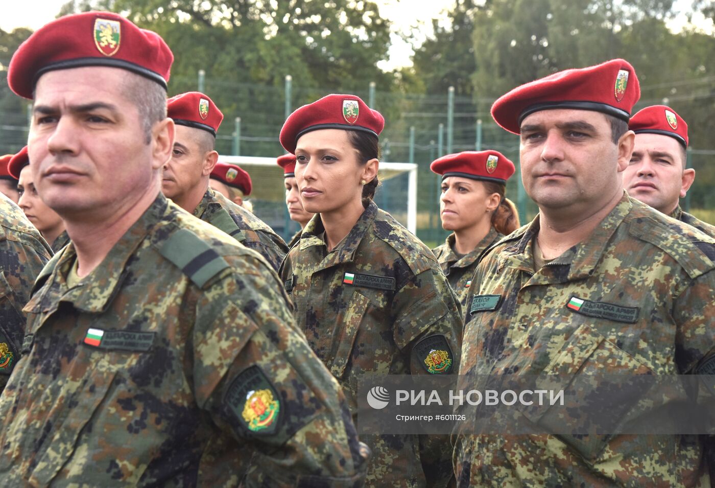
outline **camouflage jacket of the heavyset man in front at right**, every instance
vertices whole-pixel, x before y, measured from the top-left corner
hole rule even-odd
[[[537,217],[478,265],[465,311],[462,387],[486,374],[693,374],[715,356],[715,240],[624,194],[588,240],[535,273],[538,228]],[[620,313],[578,311],[581,301]],[[460,487],[708,486],[702,437],[455,440]]]

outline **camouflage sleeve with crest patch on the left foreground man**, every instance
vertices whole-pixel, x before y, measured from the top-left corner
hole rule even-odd
[[[340,386],[295,326],[275,273],[233,260],[196,306],[197,404],[255,452],[246,486],[359,486],[368,453]]]

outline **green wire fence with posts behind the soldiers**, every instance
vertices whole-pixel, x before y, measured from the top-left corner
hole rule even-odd
[[[0,86],[6,89],[5,72],[0,72]],[[382,160],[415,162],[418,164],[418,236],[428,243],[440,243],[447,233],[439,218],[439,179],[429,170],[430,162],[440,155],[464,150],[495,149],[509,157],[518,167],[518,136],[493,122],[489,108],[493,99],[472,99],[453,93],[404,94],[380,92],[380,87],[365,87],[353,94],[385,116],[385,130],[380,135]],[[207,93],[224,113],[224,122],[217,137],[217,150],[222,155],[277,157],[285,152],[278,142],[280,128],[287,113],[335,90],[303,89],[300,79],[287,79],[285,85],[266,86],[252,83],[227,82],[199,75],[196,78],[173,77],[169,94],[189,90]],[[652,102],[652,101],[651,101]],[[29,109],[25,103],[14,103],[21,109],[0,105],[0,153],[19,150],[26,142]],[[634,112],[646,106],[636,105]],[[678,107],[674,105],[677,110]],[[689,166],[696,169],[696,180],[682,206],[696,217],[715,223],[715,149],[711,141],[692,141]],[[517,170],[518,172],[518,170]],[[407,174],[383,182],[375,200],[388,212],[404,208]],[[275,185],[282,186],[280,176]],[[538,212],[521,186],[521,179],[512,178],[507,185],[507,197],[519,209],[522,223]],[[259,217],[282,222],[278,202],[266,202],[256,209]],[[262,215],[266,213],[266,215]],[[270,213],[270,215],[268,215]],[[280,225],[286,237],[295,228]]]

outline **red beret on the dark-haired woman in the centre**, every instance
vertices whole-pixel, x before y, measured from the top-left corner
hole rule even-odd
[[[280,144],[295,153],[298,138],[319,129],[360,130],[380,135],[385,119],[355,95],[330,94],[317,102],[303,105],[290,114],[280,130]]]

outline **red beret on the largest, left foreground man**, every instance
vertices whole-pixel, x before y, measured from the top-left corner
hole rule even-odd
[[[139,29],[112,12],[61,17],[34,31],[10,61],[7,81],[32,98],[39,77],[53,69],[109,66],[141,74],[167,87],[174,55],[159,34]]]

